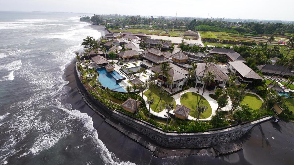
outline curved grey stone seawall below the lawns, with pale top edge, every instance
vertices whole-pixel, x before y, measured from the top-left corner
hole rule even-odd
[[[256,124],[271,119],[271,117],[265,117],[247,124],[211,132],[166,133],[116,111],[113,111],[111,117],[142,133],[157,144],[171,148],[209,147],[212,145],[229,142],[235,139],[239,139]]]

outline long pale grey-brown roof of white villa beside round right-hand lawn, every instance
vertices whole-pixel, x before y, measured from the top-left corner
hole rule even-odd
[[[233,62],[229,62],[229,64],[232,65],[232,67],[235,68],[235,70],[237,70],[237,72],[244,78],[253,78],[253,79],[263,80],[263,78],[260,77],[260,75],[255,73],[251,68],[249,68],[247,65],[245,65],[241,61],[233,61]]]

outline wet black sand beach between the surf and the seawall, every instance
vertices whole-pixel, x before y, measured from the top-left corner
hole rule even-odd
[[[103,26],[89,26],[101,32],[102,36],[108,33]],[[168,156],[156,158],[140,144],[118,132],[103,122],[103,118],[91,110],[78,93],[78,86],[74,74],[74,61],[66,66],[64,79],[71,87],[65,102],[72,105],[72,110],[80,110],[92,117],[93,126],[98,132],[98,138],[121,161],[130,161],[135,164],[293,164],[294,162],[294,125],[293,122],[279,122],[273,124],[268,121],[254,127],[242,138],[243,150],[234,154],[214,158],[210,153],[179,157]],[[80,88],[81,89],[81,88]],[[129,128],[127,128],[129,129]],[[174,151],[176,149],[170,149]]]

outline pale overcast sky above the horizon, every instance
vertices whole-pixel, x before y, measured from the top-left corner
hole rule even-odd
[[[294,21],[293,0],[0,0],[0,11]]]

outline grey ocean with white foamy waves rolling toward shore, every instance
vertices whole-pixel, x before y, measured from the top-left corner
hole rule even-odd
[[[0,164],[132,164],[64,102],[65,66],[84,38],[101,37],[81,15],[0,11]]]

